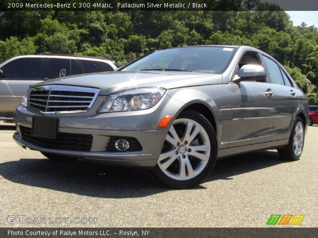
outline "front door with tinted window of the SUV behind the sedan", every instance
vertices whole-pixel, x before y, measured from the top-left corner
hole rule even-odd
[[[13,116],[30,85],[44,80],[44,58],[18,58],[1,67],[0,114]]]

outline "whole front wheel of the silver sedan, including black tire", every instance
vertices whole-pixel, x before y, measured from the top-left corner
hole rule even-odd
[[[168,186],[191,187],[210,175],[217,153],[217,137],[211,123],[197,112],[185,111],[170,126],[152,173]]]

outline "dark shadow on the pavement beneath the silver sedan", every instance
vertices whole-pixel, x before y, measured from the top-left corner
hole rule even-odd
[[[285,163],[276,152],[262,151],[220,159],[207,179],[233,176]],[[103,198],[145,197],[172,188],[156,182],[145,171],[106,167],[87,161],[55,162],[48,159],[20,159],[0,164],[0,175],[11,182],[79,195]],[[190,189],[205,189],[204,184]]]

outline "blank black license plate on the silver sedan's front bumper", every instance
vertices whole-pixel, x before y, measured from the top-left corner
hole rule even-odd
[[[32,118],[32,135],[55,139],[58,128],[57,118]]]

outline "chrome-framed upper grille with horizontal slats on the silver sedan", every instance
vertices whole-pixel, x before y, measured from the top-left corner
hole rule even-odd
[[[29,107],[41,113],[85,112],[94,103],[99,89],[65,85],[31,88]]]

